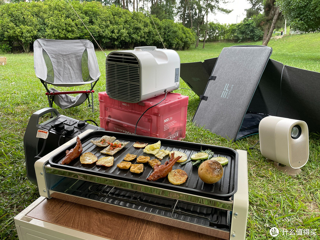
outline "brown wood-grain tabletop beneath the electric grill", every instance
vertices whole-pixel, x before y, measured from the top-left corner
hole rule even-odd
[[[220,240],[217,237],[56,198],[45,199],[27,216],[115,240]]]

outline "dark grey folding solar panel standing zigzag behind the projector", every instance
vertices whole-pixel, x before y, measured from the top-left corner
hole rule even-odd
[[[193,122],[230,140],[257,133],[268,115],[303,120],[320,132],[320,73],[286,66],[271,52],[234,46],[218,58],[182,63],[180,77],[200,96]]]

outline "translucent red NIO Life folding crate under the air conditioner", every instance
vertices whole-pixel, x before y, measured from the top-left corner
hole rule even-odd
[[[100,127],[111,132],[134,134],[139,117],[165,94],[138,103],[122,102],[99,92]],[[165,100],[150,108],[139,120],[136,134],[180,140],[186,137],[188,96],[168,92]]]

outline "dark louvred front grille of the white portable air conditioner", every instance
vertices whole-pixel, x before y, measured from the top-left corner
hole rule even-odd
[[[139,61],[130,54],[109,54],[106,60],[106,92],[109,97],[137,102],[140,91]]]

